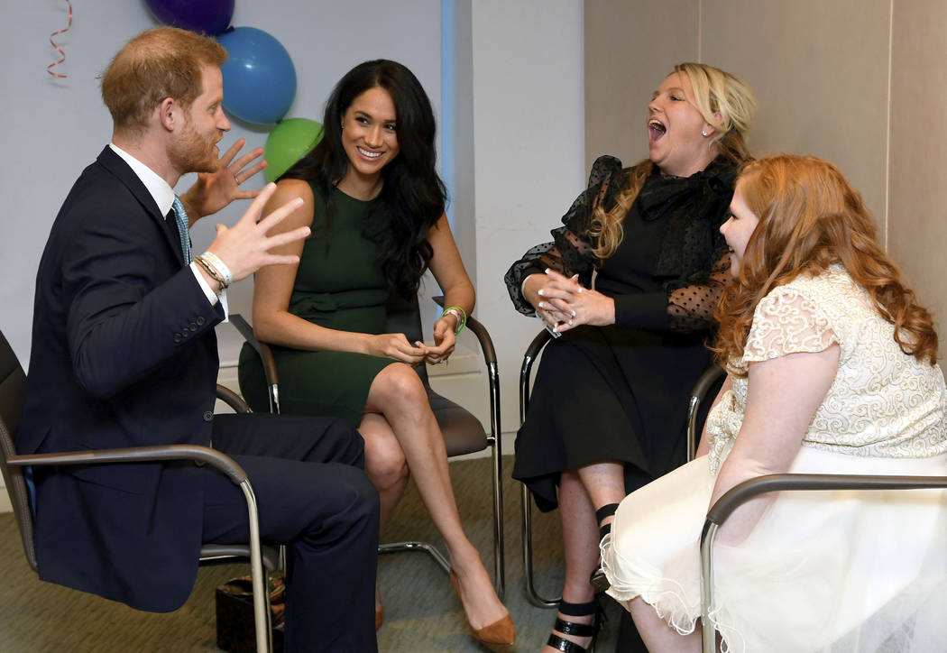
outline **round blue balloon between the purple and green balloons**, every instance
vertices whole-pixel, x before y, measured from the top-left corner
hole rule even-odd
[[[227,50],[223,108],[246,122],[270,124],[295,99],[295,66],[286,48],[256,27],[235,27],[217,37]]]

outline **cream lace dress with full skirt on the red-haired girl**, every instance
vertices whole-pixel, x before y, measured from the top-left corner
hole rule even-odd
[[[939,367],[902,353],[842,266],[763,298],[731,367],[836,343],[838,372],[790,471],[947,475]],[[709,455],[629,495],[601,543],[608,593],[626,608],[640,595],[682,633],[700,616],[698,540],[746,392],[734,378],[707,416]],[[724,651],[947,651],[945,496],[779,493],[740,545],[715,545],[711,613]]]

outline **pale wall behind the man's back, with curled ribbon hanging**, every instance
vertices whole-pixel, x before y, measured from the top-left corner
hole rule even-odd
[[[20,361],[29,354],[33,283],[49,225],[70,185],[111,135],[96,75],[136,31],[153,25],[144,3],[76,3],[74,23],[58,38],[66,62],[48,36],[66,24],[65,3],[7,3],[0,21],[4,102],[5,238],[0,244],[0,328]],[[106,16],[111,28],[106,27]]]

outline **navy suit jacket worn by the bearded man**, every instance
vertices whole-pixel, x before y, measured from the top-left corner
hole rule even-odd
[[[209,445],[222,319],[151,194],[105,148],[40,262],[17,450]],[[202,476],[189,463],[37,468],[40,577],[180,607],[197,572]]]

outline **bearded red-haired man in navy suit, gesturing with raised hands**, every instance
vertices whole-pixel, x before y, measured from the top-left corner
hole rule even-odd
[[[188,264],[184,211],[193,221],[221,208],[259,168],[242,169],[252,153],[226,168],[237,148],[217,158],[230,128],[225,59],[211,39],[159,27],[103,74],[112,143],[72,187],[40,262],[18,450],[212,444],[231,454],[254,486],[261,537],[295,554],[287,649],[376,650],[378,495],[359,434],[329,418],[213,415],[226,285],[293,260],[269,250],[309,232],[266,235],[302,203],[258,222],[269,185]],[[221,162],[186,207],[176,203],[182,174]],[[134,608],[177,609],[202,543],[249,538],[241,491],[189,463],[36,469],[35,484],[41,577]]]

